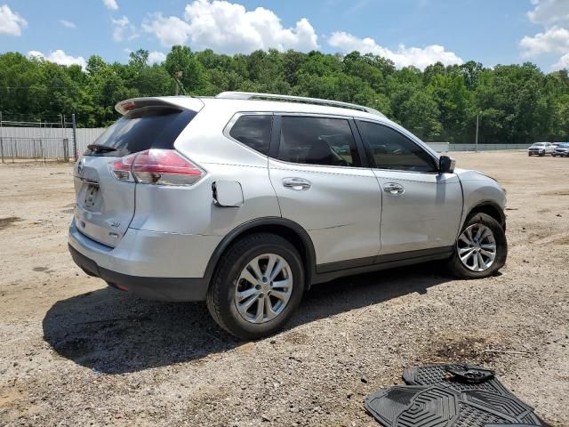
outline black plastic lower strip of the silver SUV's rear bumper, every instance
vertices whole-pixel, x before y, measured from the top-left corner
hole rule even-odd
[[[107,270],[68,245],[73,261],[90,276],[102,278],[109,286],[148,300],[204,301],[209,282],[206,278],[143,278]]]

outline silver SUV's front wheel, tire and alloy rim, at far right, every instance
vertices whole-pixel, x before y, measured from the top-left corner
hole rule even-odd
[[[458,278],[487,278],[500,270],[508,257],[506,233],[487,214],[467,219],[449,260],[449,270]]]

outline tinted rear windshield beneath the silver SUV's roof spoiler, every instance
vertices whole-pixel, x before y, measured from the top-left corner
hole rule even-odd
[[[172,149],[196,112],[171,107],[129,111],[89,145],[85,156],[123,157],[145,149]]]

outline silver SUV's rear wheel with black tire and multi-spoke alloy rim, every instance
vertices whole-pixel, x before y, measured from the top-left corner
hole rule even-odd
[[[244,340],[276,333],[304,292],[301,256],[280,236],[247,236],[223,254],[207,293],[207,308],[223,329]]]

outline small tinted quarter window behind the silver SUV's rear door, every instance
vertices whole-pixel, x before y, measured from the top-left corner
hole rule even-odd
[[[252,114],[237,118],[229,135],[247,147],[268,155],[272,115]]]

